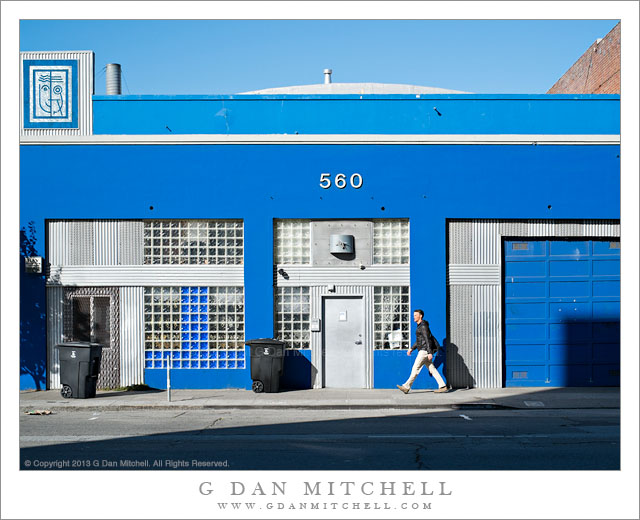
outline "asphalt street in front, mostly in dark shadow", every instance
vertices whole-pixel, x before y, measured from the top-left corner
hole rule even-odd
[[[22,469],[616,470],[620,413],[130,410],[20,416]]]

